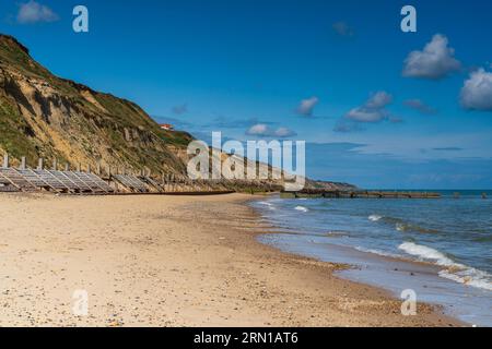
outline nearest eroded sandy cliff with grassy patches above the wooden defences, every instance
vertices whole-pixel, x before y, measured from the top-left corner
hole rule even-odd
[[[0,153],[71,166],[185,173],[191,136],[167,132],[131,101],[52,75],[0,35]],[[172,149],[171,149],[172,148]]]

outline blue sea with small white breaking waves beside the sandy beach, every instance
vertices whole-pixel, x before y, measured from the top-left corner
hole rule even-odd
[[[426,191],[442,197],[269,196],[251,205],[274,227],[260,242],[350,264],[341,277],[492,326],[492,191]]]

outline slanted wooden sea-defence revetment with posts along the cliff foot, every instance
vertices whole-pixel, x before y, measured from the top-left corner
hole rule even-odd
[[[184,176],[162,173],[151,177],[149,171],[132,173],[125,169],[113,172],[110,168],[103,173],[97,166],[85,170],[78,166],[72,170],[68,165],[59,169],[57,161],[51,168],[45,168],[39,159],[36,168],[26,166],[25,157],[19,167],[11,167],[9,156],[3,157],[0,167],[0,192],[42,192],[62,194],[173,194],[173,195],[211,195],[232,193],[233,190],[221,181],[191,181]]]

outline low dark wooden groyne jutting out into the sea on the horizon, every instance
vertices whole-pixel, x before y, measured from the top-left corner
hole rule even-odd
[[[329,197],[329,198],[440,198],[433,192],[397,192],[397,191],[338,191],[323,189],[305,189],[298,192],[281,192],[282,197]]]

